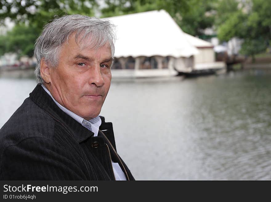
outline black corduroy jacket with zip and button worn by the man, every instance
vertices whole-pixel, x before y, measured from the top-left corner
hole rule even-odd
[[[97,137],[37,85],[0,129],[1,180],[115,180],[111,160],[134,180],[116,152],[112,123]]]

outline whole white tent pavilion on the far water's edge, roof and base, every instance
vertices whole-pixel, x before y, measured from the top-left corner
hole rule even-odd
[[[175,70],[189,73],[224,65],[215,62],[211,43],[184,33],[165,10],[107,19],[116,26],[115,58],[120,69],[112,69],[115,77],[172,76],[176,75]],[[135,58],[134,68],[127,69],[130,56]],[[164,68],[163,60],[167,56],[167,68]],[[155,58],[157,68],[144,69],[146,57]]]

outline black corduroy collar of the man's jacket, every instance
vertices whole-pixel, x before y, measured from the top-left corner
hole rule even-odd
[[[55,121],[59,122],[67,129],[70,129],[73,137],[78,143],[81,143],[94,135],[94,133],[92,133],[90,130],[63,112],[55,104],[50,95],[46,93],[44,89],[42,89],[40,84],[34,88],[32,93],[29,94],[29,97],[35,104],[37,104],[46,113],[48,113],[48,115],[55,119]],[[104,121],[102,121],[102,128],[104,128],[103,123]]]

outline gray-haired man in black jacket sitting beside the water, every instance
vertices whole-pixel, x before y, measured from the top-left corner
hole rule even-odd
[[[34,55],[38,85],[0,130],[2,180],[134,180],[99,116],[111,82],[109,21],[68,15],[47,24]]]

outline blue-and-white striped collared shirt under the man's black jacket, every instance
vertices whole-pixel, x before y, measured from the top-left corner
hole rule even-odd
[[[87,129],[89,129],[91,132],[94,133],[94,137],[98,136],[98,131],[99,131],[99,127],[102,124],[102,120],[99,116],[92,118],[91,120],[85,120],[84,118],[76,115],[75,113],[71,112],[69,109],[63,107],[62,105],[60,105],[55,99],[54,97],[51,95],[50,91],[42,84],[41,85],[42,88],[50,95],[50,97],[53,99],[53,101],[55,102],[55,104],[65,113],[67,113],[70,117],[72,117],[73,119],[75,119],[75,121],[79,122],[80,124],[82,124],[84,127],[86,127]],[[116,177],[116,180],[126,180],[125,174],[122,171],[122,169],[120,168],[118,163],[115,163],[113,161],[112,162],[112,167],[114,170],[114,174]]]

